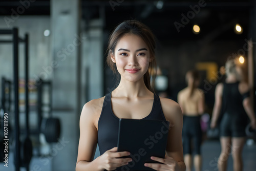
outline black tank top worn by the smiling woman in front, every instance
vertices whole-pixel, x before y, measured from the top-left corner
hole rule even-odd
[[[111,106],[111,93],[106,94],[98,121],[98,145],[100,155],[117,146],[119,118],[114,115]],[[143,119],[166,120],[161,108],[159,96],[154,94],[151,113]]]

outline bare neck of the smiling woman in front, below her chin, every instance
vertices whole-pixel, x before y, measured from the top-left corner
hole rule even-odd
[[[152,92],[146,88],[143,77],[135,82],[122,79],[121,77],[118,87],[113,91],[113,95],[132,99],[146,95],[150,96]]]

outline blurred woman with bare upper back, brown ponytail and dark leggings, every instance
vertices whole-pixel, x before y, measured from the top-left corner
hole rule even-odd
[[[204,93],[198,89],[199,72],[191,70],[186,73],[187,87],[178,93],[178,103],[183,113],[183,151],[187,171],[192,170],[191,141],[194,144],[194,166],[196,171],[202,167],[201,141],[202,131],[200,117],[204,112]]]

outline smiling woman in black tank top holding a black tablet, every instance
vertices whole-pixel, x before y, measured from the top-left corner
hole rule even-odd
[[[182,114],[170,99],[159,98],[151,88],[148,68],[155,63],[153,33],[136,20],[119,24],[109,39],[108,65],[120,74],[118,87],[83,106],[76,170],[116,170],[127,165],[129,152],[117,152],[119,118],[168,120],[165,158],[152,156],[160,163],[145,163],[155,170],[185,170],[182,149]],[[94,159],[99,145],[100,156]],[[94,160],[93,160],[94,159]]]

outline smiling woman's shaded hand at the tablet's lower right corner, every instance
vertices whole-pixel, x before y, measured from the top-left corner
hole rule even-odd
[[[144,166],[151,167],[155,170],[168,170],[168,171],[177,171],[179,170],[178,163],[172,158],[165,155],[164,159],[159,157],[151,157],[152,160],[158,161],[160,163],[145,163]],[[162,164],[163,163],[163,164]]]

